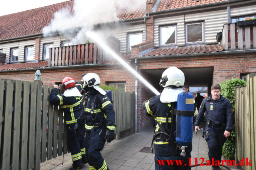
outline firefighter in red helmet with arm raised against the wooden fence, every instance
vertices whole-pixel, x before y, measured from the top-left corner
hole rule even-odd
[[[83,135],[74,133],[74,126],[77,119],[83,112],[84,107],[82,103],[82,82],[75,82],[70,77],[65,77],[62,81],[62,86],[65,89],[63,94],[58,95],[59,87],[54,85],[50,94],[50,103],[59,105],[64,111],[64,117],[67,124],[68,131],[68,147],[72,157],[72,167],[70,170],[79,170],[87,163],[85,156],[85,130]]]

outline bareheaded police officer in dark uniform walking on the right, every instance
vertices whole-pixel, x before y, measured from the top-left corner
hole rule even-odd
[[[211,87],[212,95],[203,99],[195,122],[195,131],[200,130],[199,123],[204,116],[204,112],[206,112],[205,119],[207,126],[205,140],[208,143],[209,160],[211,164],[214,164],[212,166],[213,170],[220,170],[217,162],[221,161],[222,146],[230,136],[234,121],[231,103],[228,99],[222,97],[220,92],[220,85],[213,84]]]

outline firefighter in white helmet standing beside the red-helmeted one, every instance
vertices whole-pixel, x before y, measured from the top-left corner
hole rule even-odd
[[[100,151],[106,142],[114,140],[115,111],[106,92],[99,88],[100,79],[95,73],[83,74],[83,91],[85,93],[85,111],[77,123],[86,122],[85,148],[89,169],[107,170],[107,164]]]

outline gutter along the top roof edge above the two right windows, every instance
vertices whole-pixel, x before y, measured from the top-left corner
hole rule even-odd
[[[229,1],[222,1],[222,2],[214,2],[214,3],[208,3],[203,5],[196,5],[196,6],[190,6],[190,7],[183,7],[183,8],[175,8],[175,9],[168,9],[163,11],[155,11],[155,12],[148,12],[145,14],[159,14],[159,13],[167,13],[167,12],[175,12],[175,11],[182,11],[187,9],[196,9],[196,8],[204,8],[204,7],[211,7],[216,5],[222,5],[222,4],[229,4],[233,2],[241,2],[241,0],[229,0]]]

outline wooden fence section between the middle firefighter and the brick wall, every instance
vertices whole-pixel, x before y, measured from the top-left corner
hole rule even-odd
[[[120,138],[120,132],[133,128],[133,98],[133,92],[113,91],[113,107],[116,112],[116,139]],[[131,131],[133,132],[133,129]]]

